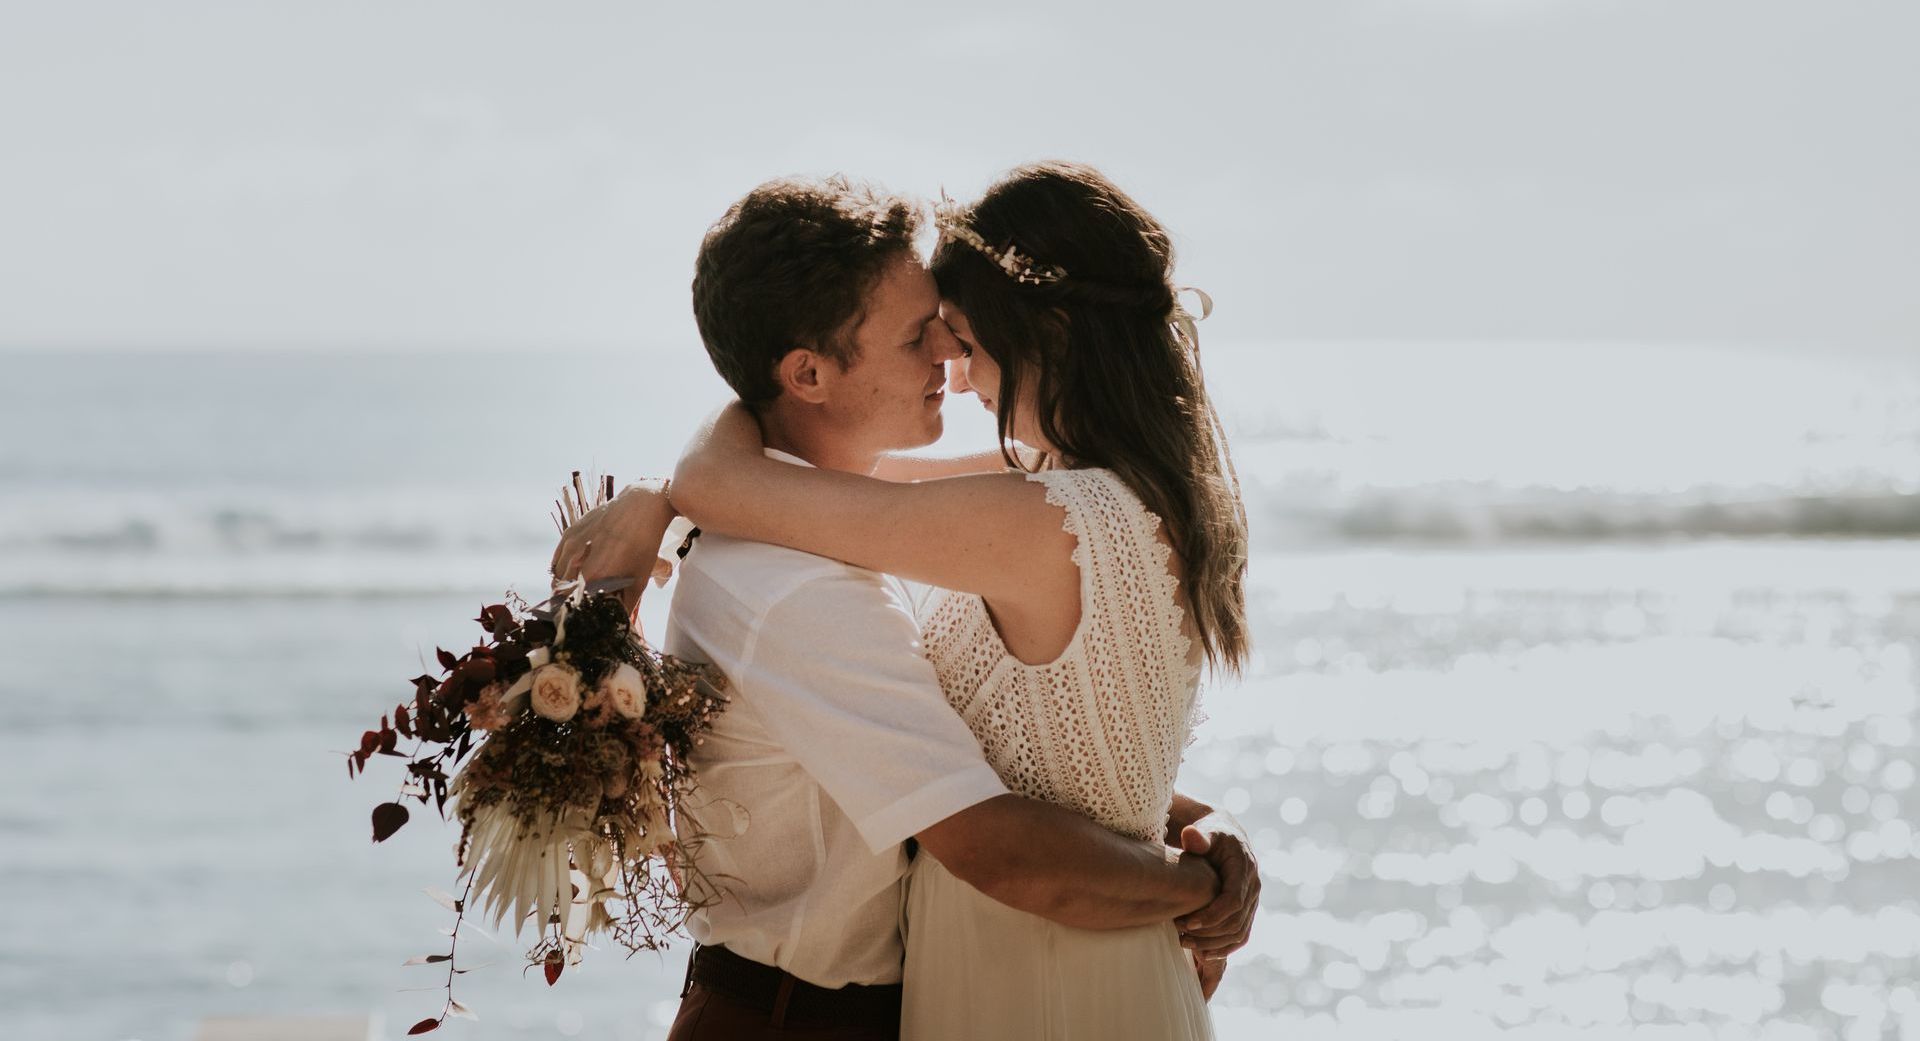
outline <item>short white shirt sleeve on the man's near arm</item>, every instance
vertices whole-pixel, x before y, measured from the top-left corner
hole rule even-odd
[[[733,684],[874,853],[1006,793],[877,576],[822,576],[781,597]]]

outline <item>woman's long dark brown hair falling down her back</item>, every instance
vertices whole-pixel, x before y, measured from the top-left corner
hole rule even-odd
[[[1106,467],[1160,515],[1187,569],[1208,663],[1238,672],[1248,655],[1246,511],[1200,359],[1169,327],[1167,230],[1100,171],[1064,161],[1014,169],[962,219],[995,250],[1018,248],[1068,273],[1052,284],[1016,282],[952,238],[933,254],[941,296],[966,311],[1000,365],[1008,465],[1020,465],[1010,430],[1031,380],[1035,421],[1060,455],[1043,467]]]

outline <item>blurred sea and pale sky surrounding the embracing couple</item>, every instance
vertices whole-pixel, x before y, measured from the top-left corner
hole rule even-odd
[[[1100,165],[1219,303],[1221,1037],[1920,1037],[1920,13],[0,8],[0,1033],[440,1006],[359,732],[722,399],[762,179]],[[943,448],[991,438],[972,398]],[[664,595],[645,615],[659,632]],[[457,1037],[664,1035],[684,945]],[[463,953],[463,960],[467,955]]]

